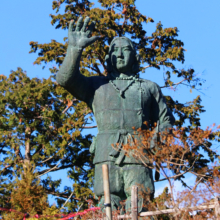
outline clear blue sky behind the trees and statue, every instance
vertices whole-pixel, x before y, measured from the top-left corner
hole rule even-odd
[[[91,0],[92,1],[92,0]],[[96,1],[94,1],[96,2]],[[220,124],[218,109],[220,108],[220,1],[212,0],[136,0],[137,8],[142,14],[154,19],[153,24],[145,26],[147,35],[161,21],[164,27],[178,27],[179,39],[184,42],[185,63],[179,68],[194,68],[196,73],[206,83],[202,93],[189,92],[183,86],[176,92],[163,90],[165,95],[187,102],[201,95],[202,105],[206,112],[201,115],[202,128]],[[29,54],[30,41],[39,43],[50,42],[51,39],[62,41],[67,36],[67,30],[56,30],[50,24],[49,14],[52,11],[50,0],[10,0],[2,1],[0,7],[0,74],[9,75],[10,70],[21,67],[30,77],[48,78],[48,64],[44,70],[33,65],[37,55]],[[150,79],[163,85],[162,72],[148,68],[142,78]],[[96,131],[93,130],[95,134]],[[218,145],[216,145],[217,147]],[[68,180],[66,180],[68,181]]]

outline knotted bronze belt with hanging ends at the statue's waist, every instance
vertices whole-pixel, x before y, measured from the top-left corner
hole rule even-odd
[[[122,150],[123,144],[128,144],[133,142],[132,134],[134,133],[134,130],[126,130],[126,129],[120,129],[120,130],[108,130],[108,131],[101,131],[99,134],[117,134],[115,138],[114,148],[109,153],[109,156],[117,157],[115,164],[120,165],[122,160],[125,157],[125,152]]]

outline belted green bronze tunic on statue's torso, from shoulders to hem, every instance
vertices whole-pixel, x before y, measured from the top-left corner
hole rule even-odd
[[[114,150],[112,145],[126,144],[134,128],[146,129],[143,122],[159,123],[160,131],[172,127],[173,116],[156,83],[135,77],[127,80],[94,77],[90,88],[84,100],[92,108],[98,127],[97,138],[90,148],[95,153],[94,164],[139,163],[133,157],[125,157],[122,150]]]

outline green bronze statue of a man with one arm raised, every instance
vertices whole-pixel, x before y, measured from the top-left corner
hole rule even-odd
[[[69,25],[68,49],[64,62],[57,73],[57,82],[73,96],[88,104],[98,127],[97,138],[90,147],[94,152],[95,183],[97,196],[103,196],[102,164],[108,164],[110,192],[113,208],[120,208],[126,199],[130,207],[132,185],[142,185],[153,197],[152,170],[133,157],[126,157],[121,145],[133,135],[133,127],[146,129],[143,122],[159,124],[159,130],[171,128],[174,118],[166,106],[159,86],[149,80],[140,79],[139,56],[132,42],[126,37],[115,38],[106,56],[108,77],[85,77],[80,74],[79,63],[85,47],[99,37],[89,37],[95,23],[88,26],[90,19],[79,18],[75,31],[73,21]],[[119,150],[112,144],[119,143]],[[140,200],[140,206],[143,199]],[[103,198],[101,203],[103,203]],[[141,207],[139,207],[140,209]]]

